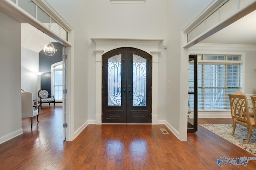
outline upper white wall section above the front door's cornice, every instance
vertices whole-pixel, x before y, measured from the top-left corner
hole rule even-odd
[[[166,0],[146,0],[145,4],[89,2],[90,38],[166,37]]]

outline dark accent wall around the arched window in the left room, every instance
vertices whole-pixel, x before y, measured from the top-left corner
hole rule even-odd
[[[60,43],[52,43],[57,49],[53,56],[48,56],[44,51],[39,52],[39,71],[45,72],[41,75],[41,89],[46,89],[51,94],[51,65],[62,61],[62,47]]]

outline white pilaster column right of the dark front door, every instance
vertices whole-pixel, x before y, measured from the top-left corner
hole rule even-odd
[[[150,51],[152,54],[152,125],[158,124],[158,55],[161,51]]]

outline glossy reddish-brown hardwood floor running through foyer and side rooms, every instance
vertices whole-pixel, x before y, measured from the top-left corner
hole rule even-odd
[[[217,164],[219,156],[254,157],[198,126],[181,142],[165,125],[88,125],[72,142],[62,141],[62,108],[44,106],[34,119],[22,119],[24,134],[0,145],[1,170],[255,170],[256,160],[242,165]],[[199,124],[232,123],[199,119]],[[163,134],[165,128],[169,134]]]

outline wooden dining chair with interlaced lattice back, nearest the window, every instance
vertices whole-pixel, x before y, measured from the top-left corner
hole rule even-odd
[[[256,129],[255,116],[249,113],[248,100],[244,94],[228,94],[230,100],[230,111],[233,120],[232,136],[236,130],[236,124],[248,128],[248,138],[246,143],[250,142],[252,129]],[[254,113],[255,114],[255,113]]]

